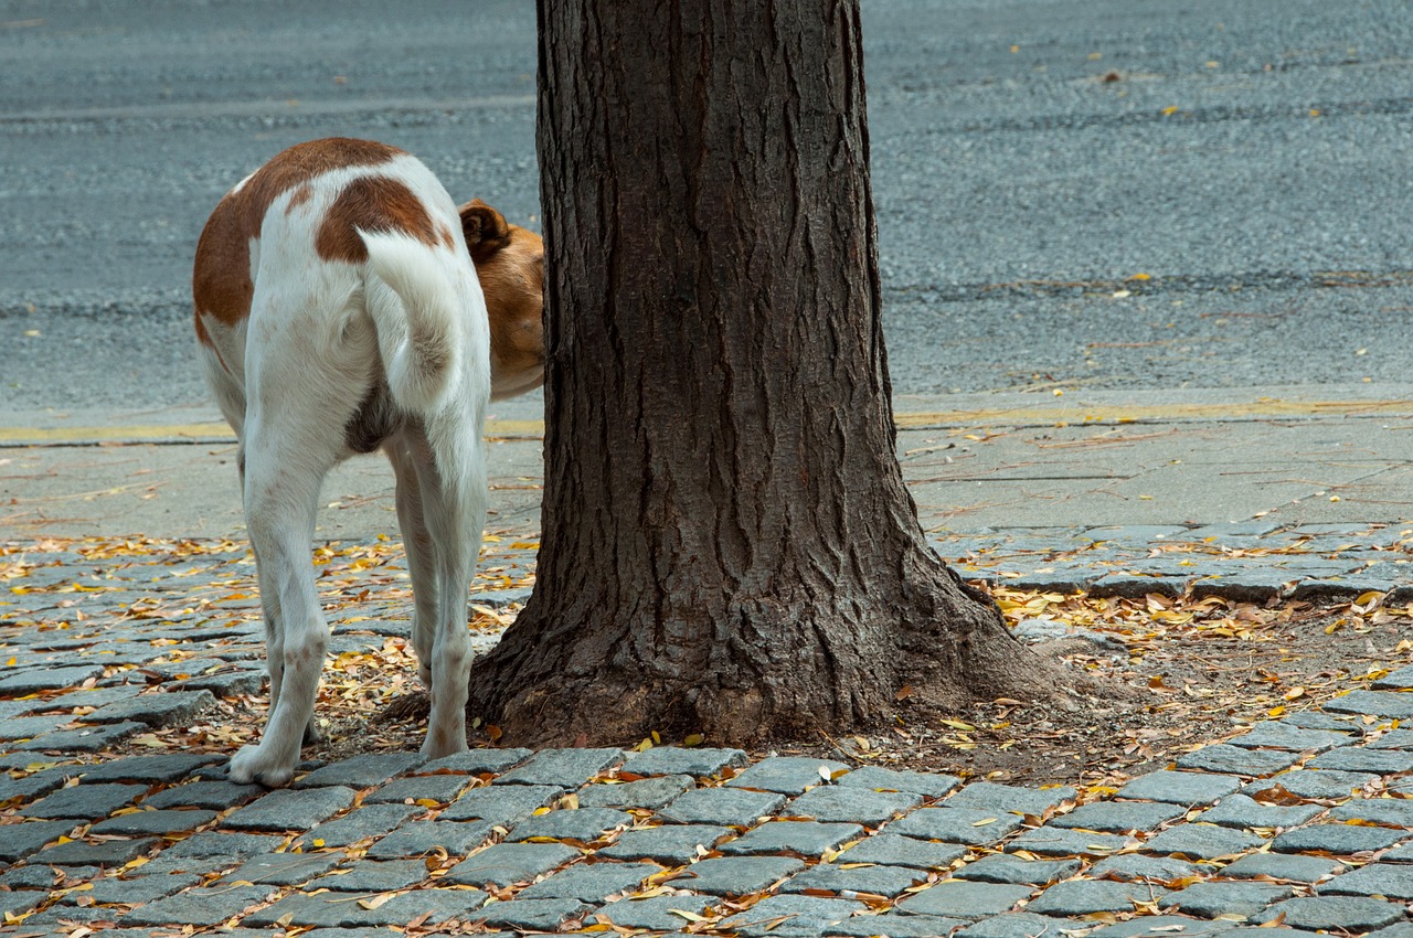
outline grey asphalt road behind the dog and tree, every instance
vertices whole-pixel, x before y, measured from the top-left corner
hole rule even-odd
[[[896,390],[1407,381],[1406,0],[866,0],[865,31]],[[0,0],[0,412],[203,401],[196,234],[300,140],[536,225],[534,55],[530,0]]]

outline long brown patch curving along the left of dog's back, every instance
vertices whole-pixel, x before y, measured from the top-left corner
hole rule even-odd
[[[277,154],[239,189],[227,192],[196,242],[191,284],[196,307],[196,338],[209,345],[211,336],[201,322],[203,312],[226,326],[250,315],[250,297],[254,294],[254,284],[250,283],[250,239],[260,237],[266,212],[277,198],[331,170],[376,167],[401,153],[372,140],[311,140]],[[291,205],[307,198],[308,194],[300,196],[295,192]]]

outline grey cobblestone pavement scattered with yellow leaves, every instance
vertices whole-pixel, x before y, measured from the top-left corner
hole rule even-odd
[[[937,547],[1020,588],[1269,598],[1402,590],[1409,537],[1010,530]],[[0,550],[10,932],[1413,938],[1413,668],[1108,792],[702,747],[367,752],[266,791],[225,780],[219,736],[211,752],[112,752],[260,692],[242,545]],[[521,602],[533,550],[492,542],[473,603]],[[391,545],[315,562],[348,612],[335,663],[406,629]]]

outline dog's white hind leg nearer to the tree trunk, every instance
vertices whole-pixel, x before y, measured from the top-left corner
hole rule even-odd
[[[471,636],[466,590],[486,524],[486,465],[479,407],[448,408],[410,425],[407,452],[417,468],[422,518],[437,572],[437,622],[431,661],[431,715],[422,754],[438,759],[466,749]],[[418,650],[421,653],[421,650]]]

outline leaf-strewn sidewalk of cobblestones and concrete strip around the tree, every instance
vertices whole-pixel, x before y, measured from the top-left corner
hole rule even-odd
[[[1407,388],[897,414],[924,526],[966,578],[1413,598]],[[256,728],[233,715],[263,674],[227,437],[209,411],[23,417],[0,429],[4,931],[1413,938],[1413,667],[1116,792],[701,747],[427,764],[373,733],[290,790],[235,785],[225,756]],[[523,602],[538,531],[533,412],[499,417],[482,624]],[[372,711],[396,688],[367,674],[415,684],[387,473],[352,463],[325,501],[321,590],[350,613],[326,692]]]

